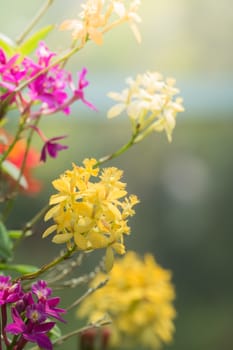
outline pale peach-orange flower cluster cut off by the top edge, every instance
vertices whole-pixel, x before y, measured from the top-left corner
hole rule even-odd
[[[125,3],[129,2],[128,6]],[[128,22],[137,41],[141,41],[141,36],[137,28],[137,23],[141,18],[137,14],[141,0],[88,0],[82,4],[83,11],[79,14],[80,19],[65,20],[61,30],[71,30],[74,40],[80,40],[83,46],[88,39],[101,45],[103,34],[113,27]]]

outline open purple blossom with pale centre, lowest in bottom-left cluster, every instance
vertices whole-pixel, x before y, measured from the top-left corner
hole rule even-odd
[[[37,345],[45,350],[52,350],[52,343],[49,337],[45,334],[49,332],[55,325],[55,322],[45,322],[41,305],[34,305],[31,310],[27,310],[27,316],[30,315],[25,322],[18,311],[12,308],[13,323],[6,326],[5,331],[14,335],[21,335],[19,342],[26,344],[28,341],[37,343]]]

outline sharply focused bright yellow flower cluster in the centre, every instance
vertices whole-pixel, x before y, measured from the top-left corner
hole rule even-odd
[[[123,172],[117,168],[105,168],[101,172],[95,159],[85,159],[82,166],[73,164],[59,179],[53,181],[59,191],[50,198],[52,208],[45,221],[54,224],[43,234],[55,232],[54,243],[76,245],[79,250],[107,248],[107,265],[111,268],[113,251],[125,253],[124,234],[130,233],[127,219],[135,212],[136,196],[126,197],[126,184],[121,182]],[[100,174],[99,174],[100,172]],[[95,182],[92,178],[99,177]]]

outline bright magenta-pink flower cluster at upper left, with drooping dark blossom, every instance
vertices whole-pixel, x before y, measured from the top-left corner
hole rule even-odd
[[[0,49],[0,101],[3,106],[5,103],[7,107],[17,108],[24,129],[31,127],[39,134],[44,142],[40,159],[45,161],[47,154],[56,157],[59,151],[67,148],[58,143],[65,136],[48,139],[34,125],[35,121],[43,115],[60,111],[69,114],[70,105],[77,100],[91,109],[95,107],[84,96],[84,89],[89,84],[86,68],[78,73],[78,83],[75,85],[71,74],[53,61],[56,54],[45,43],[39,44],[36,56],[37,60],[34,61],[16,53],[8,59]]]

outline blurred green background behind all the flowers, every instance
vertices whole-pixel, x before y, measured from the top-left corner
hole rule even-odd
[[[42,3],[1,0],[1,32],[17,37]],[[75,17],[79,5],[80,1],[55,0],[40,25]],[[43,191],[35,198],[23,197],[23,206],[17,203],[10,225],[22,226],[47,203],[51,181],[72,162],[99,158],[128,140],[127,119],[106,118],[112,105],[108,91],[120,91],[125,77],[146,70],[175,77],[186,111],[178,116],[173,142],[168,144],[164,134],[154,134],[109,165],[124,169],[129,192],[141,199],[131,220],[128,249],[152,252],[173,271],[176,334],[164,348],[232,350],[232,2],[144,0],[140,15],[140,45],[123,25],[105,36],[102,47],[88,43],[69,62],[74,73],[88,68],[87,98],[98,112],[77,104],[69,117],[44,120],[47,136],[68,134],[70,148],[38,169]],[[55,31],[48,41],[60,50],[69,45],[70,36]],[[41,146],[36,139],[35,144]],[[19,261],[23,256],[29,263],[46,262],[51,251],[58,252],[40,234],[38,228],[21,247]],[[69,293],[67,298],[74,299]],[[72,320],[75,328],[77,321]],[[70,349],[76,349],[75,342],[69,343]]]

